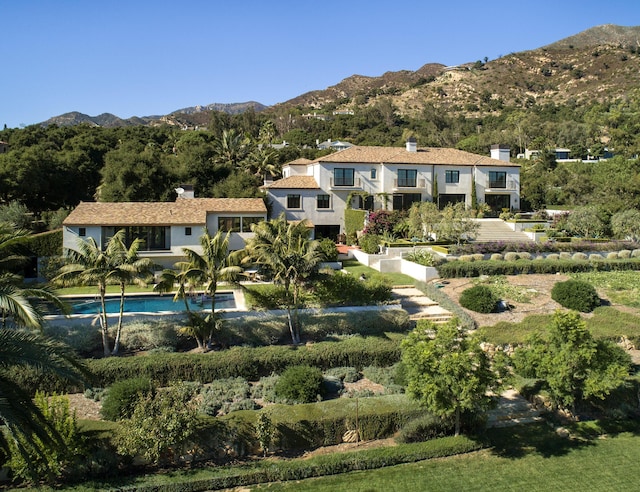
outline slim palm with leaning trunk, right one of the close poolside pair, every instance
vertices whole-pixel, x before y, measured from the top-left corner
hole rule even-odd
[[[122,319],[126,287],[129,284],[146,285],[147,282],[145,279],[152,274],[154,263],[150,258],[140,258],[138,256],[138,251],[144,243],[142,239],[135,239],[128,248],[122,240],[122,235],[116,234],[113,237],[113,241],[116,242],[115,251],[117,256],[119,256],[116,261],[117,266],[113,277],[117,279],[120,286],[120,310],[118,314],[116,338],[113,343],[113,350],[111,353],[113,355],[117,355],[120,349],[120,335],[122,334]]]

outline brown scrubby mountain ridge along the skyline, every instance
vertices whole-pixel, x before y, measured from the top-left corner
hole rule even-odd
[[[495,60],[470,61],[447,67],[428,63],[416,71],[386,72],[381,76],[352,75],[336,85],[296,96],[270,108],[249,101],[209,104],[174,111],[165,116],[122,120],[111,114],[90,117],[67,113],[44,124],[100,126],[206,126],[211,111],[237,114],[289,111],[357,110],[389,101],[401,115],[417,116],[439,107],[462,117],[499,113],[504,106],[526,109],[534,104],[581,104],[625,97],[640,86],[640,26],[606,24],[555,43]],[[330,114],[330,113],[329,113]]]

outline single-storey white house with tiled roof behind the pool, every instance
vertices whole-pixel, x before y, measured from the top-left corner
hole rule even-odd
[[[89,237],[104,247],[124,229],[127,244],[144,240],[140,256],[171,267],[184,259],[182,248],[201,252],[205,229],[212,235],[231,231],[229,248],[237,250],[253,235],[251,224],[266,218],[262,198],[193,198],[187,192],[175,202],[82,202],[63,222],[63,247],[77,249],[78,241]]]

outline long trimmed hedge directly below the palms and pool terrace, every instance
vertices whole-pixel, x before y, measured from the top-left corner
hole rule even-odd
[[[106,387],[132,377],[146,376],[159,385],[175,381],[208,383],[215,379],[242,377],[255,381],[281,373],[292,365],[331,367],[387,367],[400,360],[398,341],[379,337],[351,337],[340,342],[305,346],[234,347],[206,354],[158,353],[152,357],[108,357],[90,360],[95,385]]]

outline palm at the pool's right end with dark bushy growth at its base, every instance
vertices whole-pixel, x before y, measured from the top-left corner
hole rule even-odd
[[[211,347],[213,334],[220,326],[215,297],[218,283],[236,282],[242,273],[242,268],[238,266],[239,253],[229,254],[229,235],[229,232],[225,234],[218,230],[211,236],[205,231],[200,237],[202,253],[183,248],[187,261],[176,263],[178,272],[165,270],[161,282],[155,287],[155,290],[160,292],[169,292],[178,284],[174,299],[184,299],[190,321],[189,326],[183,331],[196,339],[201,350]],[[194,285],[204,286],[203,302],[205,298],[211,299],[211,312],[205,317],[189,309],[187,287]]]

